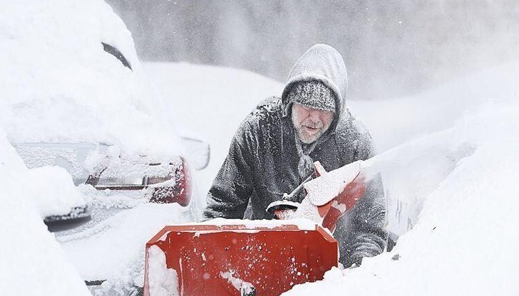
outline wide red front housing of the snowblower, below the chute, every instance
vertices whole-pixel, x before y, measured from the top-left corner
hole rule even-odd
[[[308,222],[166,226],[146,244],[144,295],[277,296],[322,280],[337,242]]]

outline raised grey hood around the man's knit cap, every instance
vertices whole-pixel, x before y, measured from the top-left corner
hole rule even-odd
[[[282,102],[289,104],[288,93],[295,83],[319,80],[331,88],[336,95],[336,113],[330,131],[334,131],[341,117],[346,113],[346,93],[348,74],[341,54],[332,46],[316,44],[297,60],[290,70],[282,93]]]

